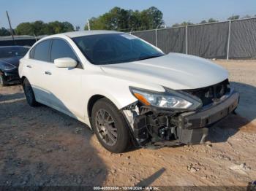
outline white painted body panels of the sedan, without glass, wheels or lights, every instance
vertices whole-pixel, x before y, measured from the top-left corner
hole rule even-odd
[[[129,86],[164,92],[164,87],[173,90],[195,89],[227,79],[227,71],[221,66],[203,58],[177,53],[131,63],[94,65],[70,39],[76,36],[113,33],[119,32],[78,31],[45,37],[39,42],[51,38],[66,40],[78,55],[83,69],[57,68],[53,63],[36,61],[29,58],[29,51],[20,60],[20,77],[29,79],[38,102],[75,117],[89,126],[88,103],[94,95],[105,96],[121,109],[137,101]],[[45,71],[51,75],[45,75]]]

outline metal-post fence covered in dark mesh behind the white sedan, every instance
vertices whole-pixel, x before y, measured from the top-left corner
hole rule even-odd
[[[165,53],[180,52],[203,58],[256,58],[256,17],[132,34]]]

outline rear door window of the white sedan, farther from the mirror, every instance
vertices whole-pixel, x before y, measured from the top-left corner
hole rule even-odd
[[[34,47],[34,59],[39,61],[49,61],[49,47],[50,47],[50,40],[45,40],[40,42],[39,44]]]

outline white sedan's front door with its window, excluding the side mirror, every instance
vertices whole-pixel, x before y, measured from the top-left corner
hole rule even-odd
[[[57,68],[54,60],[57,58],[72,58],[78,62],[73,69]],[[83,106],[81,104],[81,75],[83,67],[80,64],[75,51],[64,39],[53,39],[50,49],[50,85],[52,93],[51,102],[62,112],[72,117],[83,118]]]

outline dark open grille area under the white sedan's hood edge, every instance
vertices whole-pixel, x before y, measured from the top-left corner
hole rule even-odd
[[[203,106],[207,106],[208,104],[211,104],[214,101],[218,101],[219,98],[222,97],[222,95],[228,93],[230,91],[228,85],[228,79],[225,79],[223,82],[220,82],[216,85],[184,91],[196,96],[197,98],[200,98],[200,100],[203,102]]]

